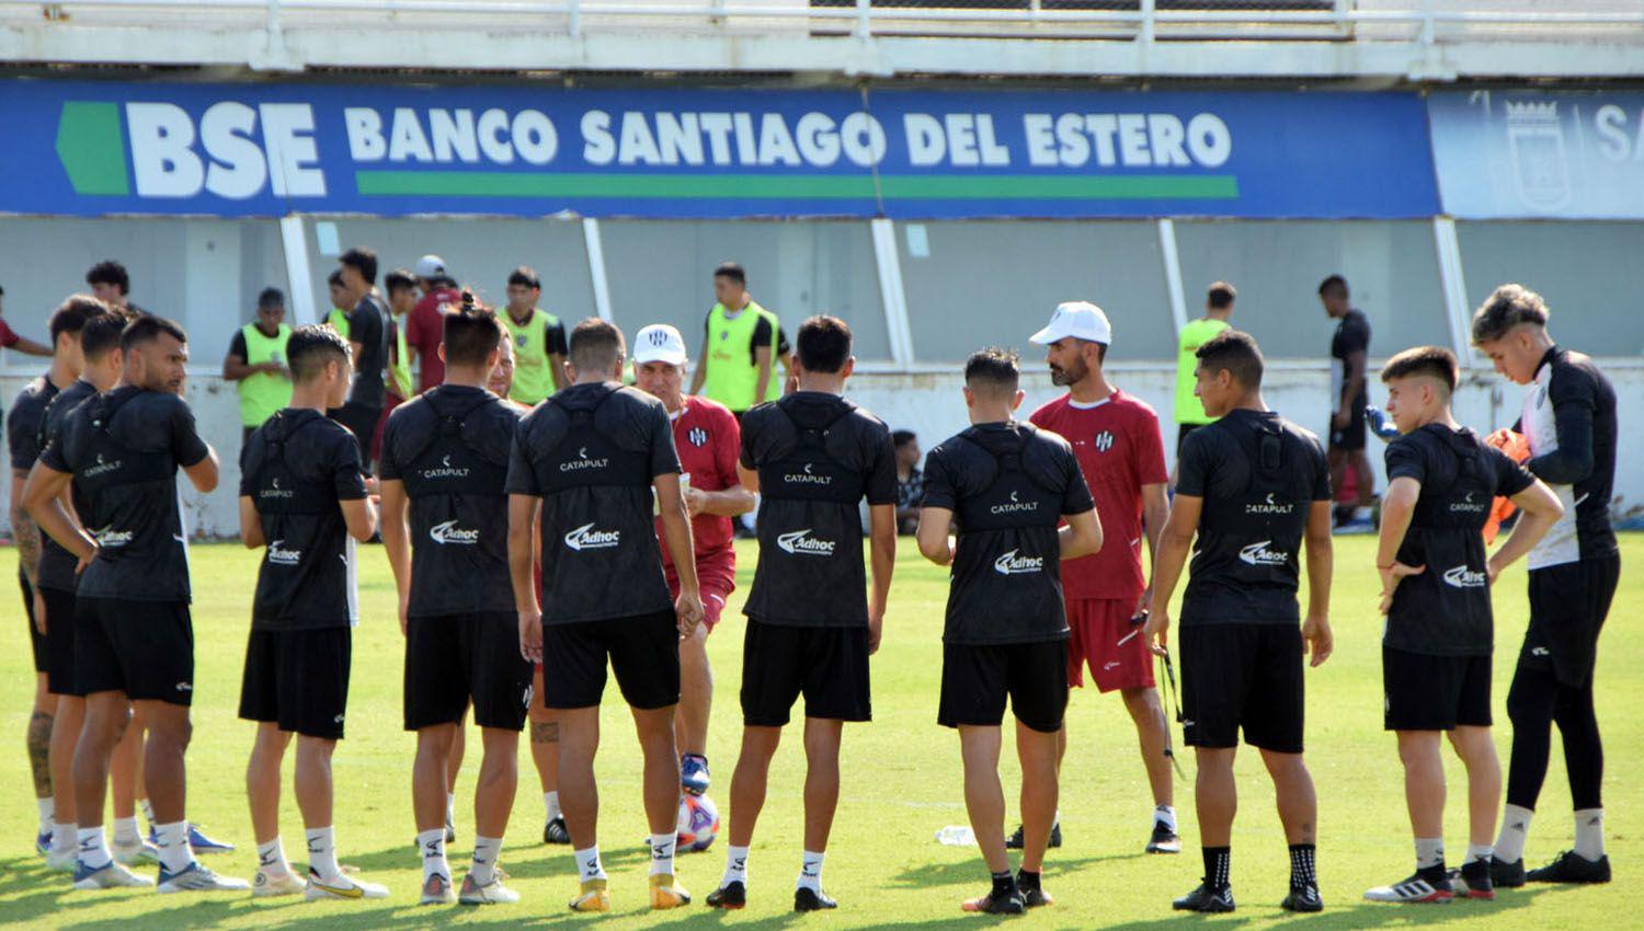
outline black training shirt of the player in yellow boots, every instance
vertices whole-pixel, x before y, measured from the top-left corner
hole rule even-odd
[[[543,499],[543,622],[667,611],[651,483],[679,473],[663,402],[616,383],[574,384],[520,420],[508,494]]]

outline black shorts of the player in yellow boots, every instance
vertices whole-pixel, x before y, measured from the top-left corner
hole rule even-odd
[[[631,708],[679,704],[679,617],[674,609],[543,626],[543,704],[593,708],[605,696],[605,662]]]

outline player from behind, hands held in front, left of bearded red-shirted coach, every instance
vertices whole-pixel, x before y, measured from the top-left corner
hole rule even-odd
[[[1062,437],[1021,424],[1016,353],[965,363],[972,427],[926,456],[919,552],[954,566],[942,631],[937,721],[958,729],[965,809],[993,888],[965,911],[1051,905],[1039,882],[1057,803],[1057,732],[1067,709],[1067,616],[1060,562],[1101,548],[1097,504]],[[949,537],[958,521],[958,542]],[[1057,530],[1057,522],[1067,525]],[[1023,767],[1023,867],[1004,854],[1000,726],[1016,714]]]

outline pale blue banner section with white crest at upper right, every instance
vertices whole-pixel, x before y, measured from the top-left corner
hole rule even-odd
[[[1434,94],[1445,213],[1483,218],[1644,218],[1644,94]]]

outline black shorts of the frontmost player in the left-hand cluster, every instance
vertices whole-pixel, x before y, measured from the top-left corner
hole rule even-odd
[[[51,622],[51,609],[46,609]],[[49,631],[49,627],[48,627]],[[74,690],[194,703],[194,622],[186,601],[74,599]]]

